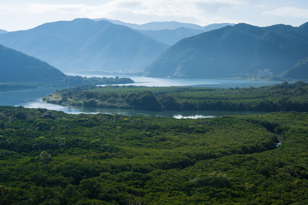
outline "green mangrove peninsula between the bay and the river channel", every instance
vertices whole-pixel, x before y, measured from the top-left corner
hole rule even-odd
[[[43,97],[51,103],[141,110],[308,111],[308,83],[250,88],[78,86]]]

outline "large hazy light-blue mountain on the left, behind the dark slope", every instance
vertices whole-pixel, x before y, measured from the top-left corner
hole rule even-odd
[[[0,34],[0,43],[62,71],[143,70],[169,47],[127,26],[87,18]]]

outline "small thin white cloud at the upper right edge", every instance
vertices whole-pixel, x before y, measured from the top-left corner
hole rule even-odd
[[[262,14],[274,16],[289,16],[296,18],[308,18],[307,9],[299,9],[295,7],[281,7],[272,11],[265,11]]]

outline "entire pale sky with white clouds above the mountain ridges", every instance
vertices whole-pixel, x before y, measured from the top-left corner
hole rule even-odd
[[[0,0],[0,29],[7,31],[75,18],[109,18],[137,24],[178,21],[201,26],[226,22],[300,26],[308,22],[308,1]]]

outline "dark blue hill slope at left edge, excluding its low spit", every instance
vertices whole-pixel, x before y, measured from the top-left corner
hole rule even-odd
[[[0,45],[0,82],[48,82],[65,76],[47,62]]]

